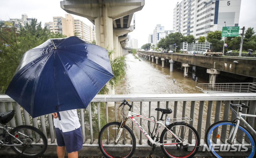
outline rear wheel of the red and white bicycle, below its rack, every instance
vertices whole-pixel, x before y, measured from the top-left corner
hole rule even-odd
[[[171,158],[190,158],[198,151],[199,135],[191,125],[185,122],[175,122],[162,131],[160,143],[162,151]],[[175,135],[173,135],[172,131]],[[178,139],[181,142],[178,141]],[[177,144],[174,144],[177,143]]]

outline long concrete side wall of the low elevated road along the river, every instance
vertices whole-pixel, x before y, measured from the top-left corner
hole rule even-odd
[[[161,53],[155,51],[137,51],[142,54],[152,55],[158,58],[169,59],[185,64],[207,67],[239,75],[256,77],[256,59],[238,57],[211,57],[203,55],[189,55],[180,53]]]

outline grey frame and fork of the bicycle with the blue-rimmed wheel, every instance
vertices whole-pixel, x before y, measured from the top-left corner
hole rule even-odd
[[[240,108],[240,107],[238,107],[238,108]],[[242,110],[242,108],[241,108],[241,110]],[[229,140],[230,140],[230,138],[231,138],[231,136],[232,136],[231,142],[234,141],[235,134],[236,134],[236,132],[237,132],[237,130],[238,130],[238,126],[239,126],[239,124],[240,124],[240,120],[241,120],[242,122],[244,122],[245,125],[246,125],[246,127],[249,127],[249,129],[256,135],[256,131],[251,127],[251,125],[249,125],[248,122],[246,122],[246,120],[245,120],[244,118],[242,118],[242,116],[247,116],[247,117],[254,117],[254,118],[256,118],[256,115],[243,114],[243,113],[241,112],[241,110],[238,109],[238,115],[236,115],[236,121],[237,121],[237,122],[236,122],[236,126],[235,126],[235,127],[234,127],[234,126],[232,127],[231,132],[230,132],[230,135],[229,135]]]

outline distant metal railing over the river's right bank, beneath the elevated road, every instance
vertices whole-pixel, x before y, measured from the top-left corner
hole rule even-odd
[[[198,83],[204,93],[256,93],[256,83]]]

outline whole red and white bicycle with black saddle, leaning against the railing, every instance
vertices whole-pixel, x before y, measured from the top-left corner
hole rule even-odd
[[[128,105],[129,110],[127,114],[124,114],[124,106]],[[132,157],[136,148],[136,139],[132,130],[125,125],[128,119],[131,119],[135,127],[138,127],[140,131],[148,138],[148,144],[152,146],[152,151],[149,157],[152,157],[152,153],[156,146],[160,145],[162,151],[166,156],[171,158],[190,158],[196,154],[199,148],[200,140],[197,131],[189,125],[187,122],[192,121],[191,118],[175,118],[166,121],[163,119],[164,114],[171,114],[171,109],[156,108],[155,110],[161,111],[161,118],[158,120],[147,118],[142,115],[131,112],[132,105],[126,100],[120,105],[122,107],[123,121],[121,122],[110,122],[102,127],[99,137],[98,144],[101,152],[108,158],[128,158]],[[120,108],[119,107],[119,108]],[[153,132],[150,135],[143,129],[143,127],[134,119],[133,116],[155,122],[156,130],[153,136]],[[153,117],[154,118],[154,117]],[[166,124],[162,123],[165,121]],[[160,136],[160,128],[165,128]]]

